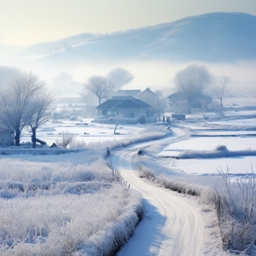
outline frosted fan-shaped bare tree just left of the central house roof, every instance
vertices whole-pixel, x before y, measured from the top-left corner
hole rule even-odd
[[[99,104],[101,104],[102,99],[108,99],[111,96],[115,90],[115,84],[103,76],[94,75],[88,79],[87,84],[84,84],[84,90],[95,94],[99,100]]]

